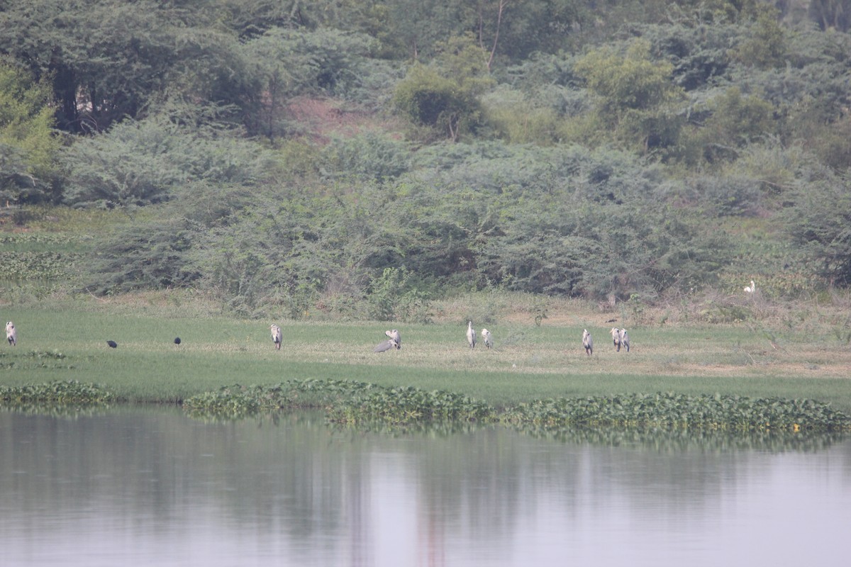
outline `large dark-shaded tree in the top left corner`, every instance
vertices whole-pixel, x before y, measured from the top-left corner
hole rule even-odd
[[[0,53],[50,77],[59,127],[103,131],[138,117],[167,89],[246,107],[256,85],[236,34],[219,26],[213,0],[9,0]]]

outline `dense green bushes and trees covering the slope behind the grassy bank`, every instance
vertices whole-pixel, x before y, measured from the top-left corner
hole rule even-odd
[[[3,300],[829,308],[847,344],[849,25],[802,0],[0,0]]]

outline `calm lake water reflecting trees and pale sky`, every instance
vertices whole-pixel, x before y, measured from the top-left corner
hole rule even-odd
[[[838,565],[851,440],[0,411],[0,564]]]

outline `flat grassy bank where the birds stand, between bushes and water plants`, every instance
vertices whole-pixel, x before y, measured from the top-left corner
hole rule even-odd
[[[495,349],[471,350],[458,321],[393,324],[403,349],[374,353],[391,324],[279,320],[284,340],[276,351],[271,321],[212,311],[200,300],[156,294],[126,303],[76,298],[2,306],[0,319],[14,320],[19,343],[0,347],[0,384],[79,380],[103,384],[124,400],[174,402],[234,383],[331,378],[440,389],[498,407],[671,391],[807,398],[851,412],[851,353],[829,336],[809,342],[792,333],[769,340],[748,326],[634,327],[631,352],[615,353],[603,321],[506,320],[488,326]],[[584,326],[595,338],[591,357],[580,344]],[[118,348],[108,348],[107,339]]]

